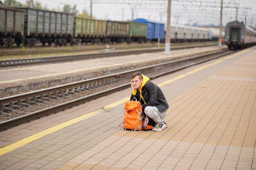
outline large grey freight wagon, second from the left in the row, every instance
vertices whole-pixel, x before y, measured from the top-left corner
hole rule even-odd
[[[43,46],[53,42],[62,46],[72,42],[74,14],[40,9],[25,10],[24,46],[34,46],[39,40]]]

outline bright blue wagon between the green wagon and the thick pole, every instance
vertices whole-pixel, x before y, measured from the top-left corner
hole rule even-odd
[[[137,18],[134,22],[147,23],[147,39],[151,41],[164,40],[164,22]]]

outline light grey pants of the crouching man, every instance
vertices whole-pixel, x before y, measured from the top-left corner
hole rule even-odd
[[[161,123],[167,115],[166,112],[160,113],[155,106],[146,106],[144,111],[148,117],[155,121],[155,123]]]

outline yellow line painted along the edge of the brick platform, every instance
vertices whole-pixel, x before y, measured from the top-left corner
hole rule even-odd
[[[235,56],[237,56],[237,55],[243,54],[243,53],[245,53],[245,52],[247,52],[247,51],[249,51],[249,49],[243,50],[243,51],[241,51],[241,52],[239,52],[239,53],[236,53],[236,54],[234,54],[234,55],[231,55],[231,56],[229,56],[229,57],[225,57],[225,58],[222,59],[222,60],[218,60],[218,61],[216,61],[216,62],[213,62],[213,63],[211,63],[211,64],[207,64],[207,65],[205,65],[205,66],[202,66],[202,67],[200,67],[200,68],[197,68],[197,69],[195,69],[195,70],[193,70],[193,71],[190,71],[190,72],[188,72],[188,73],[185,73],[185,74],[180,75],[180,76],[178,76],[178,77],[175,77],[175,78],[173,78],[173,79],[167,80],[166,82],[163,82],[163,83],[161,83],[161,84],[158,84],[158,86],[164,86],[164,85],[166,85],[166,84],[168,84],[168,83],[174,82],[174,81],[177,80],[177,79],[181,79],[182,77],[186,77],[187,75],[191,75],[191,74],[193,74],[193,73],[195,73],[195,72],[197,72],[197,71],[200,71],[200,70],[202,70],[202,69],[204,69],[204,68],[207,68],[207,67],[209,67],[209,66],[213,66],[213,65],[218,64],[218,63],[220,63],[220,62],[223,62],[223,61],[225,61],[225,60],[228,60],[228,59],[230,59],[230,58],[233,58],[233,57],[235,57]],[[126,102],[126,101],[128,101],[128,100],[129,100],[129,97],[126,97],[126,98],[121,99],[121,100],[119,100],[119,101],[117,101],[117,102],[115,102],[115,103],[106,105],[105,107],[103,107],[103,109],[107,109],[107,108],[112,109],[112,108],[114,108],[115,106],[118,106],[119,104],[122,104],[122,103],[124,103],[124,102]],[[34,134],[34,135],[31,135],[31,136],[29,136],[29,137],[23,138],[23,139],[21,139],[21,140],[19,140],[19,141],[14,142],[13,144],[4,146],[4,147],[0,148],[0,156],[1,156],[1,155],[4,155],[4,154],[7,153],[7,152],[11,152],[11,151],[14,150],[14,149],[20,148],[21,146],[25,146],[26,144],[29,144],[29,143],[31,143],[32,141],[35,141],[35,140],[40,139],[40,138],[42,138],[42,137],[44,137],[44,136],[46,136],[46,135],[49,135],[49,134],[51,134],[51,133],[53,133],[53,132],[56,132],[57,130],[63,129],[63,128],[67,127],[67,126],[71,126],[71,125],[73,125],[73,124],[76,124],[76,123],[78,123],[79,121],[83,121],[83,120],[85,120],[85,119],[88,119],[88,118],[90,118],[90,117],[93,117],[93,116],[95,116],[95,115],[98,115],[99,113],[101,113],[101,111],[102,111],[102,109],[98,109],[98,110],[95,110],[95,111],[93,111],[93,112],[86,113],[85,115],[76,117],[76,118],[71,119],[71,120],[69,120],[69,121],[66,121],[66,122],[64,122],[64,123],[62,123],[62,124],[58,124],[58,125],[56,125],[56,126],[53,126],[53,127],[48,128],[48,129],[46,129],[46,130],[43,130],[43,131],[41,131],[41,132],[38,132],[38,133],[36,133],[36,134]]]

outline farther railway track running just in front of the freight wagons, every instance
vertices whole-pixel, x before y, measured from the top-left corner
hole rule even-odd
[[[195,47],[205,47],[214,45],[190,45],[190,46],[179,46],[173,47],[172,50],[178,49],[189,49]],[[106,53],[94,53],[94,54],[79,54],[79,55],[65,55],[65,56],[55,56],[55,57],[34,57],[25,59],[13,59],[13,60],[0,60],[0,68],[9,66],[23,66],[30,64],[42,64],[42,63],[54,63],[54,62],[67,62],[76,60],[86,60],[91,58],[99,57],[113,57],[120,55],[131,55],[131,54],[141,54],[141,53],[155,53],[164,51],[164,49],[147,49],[147,50],[136,50],[136,51],[121,51],[121,52],[106,52]]]

